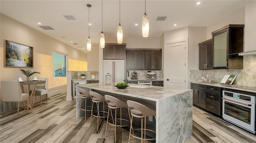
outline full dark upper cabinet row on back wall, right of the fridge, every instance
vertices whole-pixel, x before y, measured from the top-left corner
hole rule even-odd
[[[161,70],[162,49],[127,49],[127,70]]]

